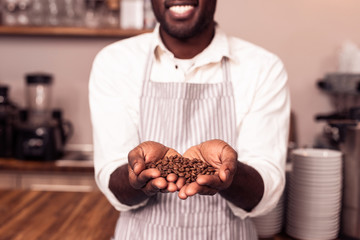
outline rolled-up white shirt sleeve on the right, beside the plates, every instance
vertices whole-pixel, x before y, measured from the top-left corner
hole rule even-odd
[[[252,102],[237,126],[239,161],[253,167],[264,182],[259,204],[246,212],[228,202],[236,216],[255,217],[271,211],[285,186],[285,164],[290,118],[290,97],[287,73],[282,62],[271,56],[256,81]]]

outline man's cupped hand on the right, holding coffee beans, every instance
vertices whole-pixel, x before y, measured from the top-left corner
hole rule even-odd
[[[230,186],[237,169],[237,153],[226,142],[209,140],[189,148],[183,155],[207,162],[216,169],[215,175],[199,175],[196,182],[185,183],[184,178],[176,182],[179,197],[186,199],[195,194],[214,195]]]

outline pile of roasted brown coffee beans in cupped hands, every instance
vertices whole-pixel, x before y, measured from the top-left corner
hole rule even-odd
[[[216,172],[214,167],[200,159],[189,159],[178,155],[147,163],[146,169],[148,168],[157,168],[164,178],[170,173],[175,173],[179,177],[184,177],[187,183],[195,182],[198,175],[214,175]]]

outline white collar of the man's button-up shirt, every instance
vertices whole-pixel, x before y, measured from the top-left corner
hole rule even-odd
[[[162,55],[168,55],[172,59],[174,54],[170,52],[164,45],[160,37],[160,25],[157,24],[153,31],[153,44],[151,46],[151,52],[154,54],[154,59],[159,60]],[[199,53],[196,58],[196,65],[205,65],[212,62],[220,62],[223,57],[231,59],[230,47],[227,35],[216,25],[215,36],[210,45]]]

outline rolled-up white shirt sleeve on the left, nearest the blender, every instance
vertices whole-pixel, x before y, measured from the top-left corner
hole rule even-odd
[[[128,84],[126,67],[115,58],[116,49],[102,50],[95,58],[89,82],[89,104],[93,127],[95,180],[109,202],[119,211],[146,204],[127,206],[120,203],[109,189],[110,175],[127,164],[127,155],[139,144],[136,76]],[[116,64],[115,64],[116,63]],[[126,66],[124,63],[123,66]],[[120,79],[120,76],[122,79]],[[119,81],[121,80],[121,81]],[[121,82],[121,85],[120,83]]]

